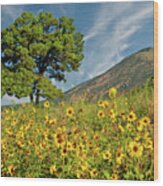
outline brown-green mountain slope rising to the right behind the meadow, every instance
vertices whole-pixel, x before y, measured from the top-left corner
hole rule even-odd
[[[106,96],[110,87],[116,87],[120,93],[128,92],[143,85],[153,76],[154,50],[146,48],[123,59],[105,73],[67,91],[66,97],[78,99],[79,96],[85,95],[89,99],[96,100]]]

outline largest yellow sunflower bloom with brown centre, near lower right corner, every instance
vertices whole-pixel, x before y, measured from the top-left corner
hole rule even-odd
[[[143,146],[138,142],[130,142],[129,144],[129,152],[131,157],[141,157],[143,154]]]

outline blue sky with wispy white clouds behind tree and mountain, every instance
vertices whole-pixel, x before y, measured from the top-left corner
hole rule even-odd
[[[78,72],[66,74],[66,83],[53,83],[63,91],[102,74],[126,56],[153,47],[153,2],[108,2],[74,4],[2,5],[1,28],[8,27],[24,11],[52,12],[74,19],[76,31],[84,35],[84,59]],[[3,104],[28,101],[8,96]]]

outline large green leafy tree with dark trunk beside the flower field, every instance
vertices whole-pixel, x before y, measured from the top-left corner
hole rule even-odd
[[[83,59],[83,35],[73,19],[50,12],[24,12],[1,34],[2,93],[17,98],[61,95],[51,82],[66,81],[65,72],[77,71]]]

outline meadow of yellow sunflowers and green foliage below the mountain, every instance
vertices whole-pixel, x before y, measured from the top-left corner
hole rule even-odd
[[[153,87],[2,108],[3,177],[153,180]]]

